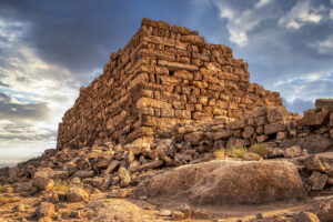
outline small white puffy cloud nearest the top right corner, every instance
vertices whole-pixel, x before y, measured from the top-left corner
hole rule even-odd
[[[311,9],[310,1],[299,1],[287,14],[279,19],[279,24],[287,29],[300,29],[306,23],[319,23],[323,16]]]

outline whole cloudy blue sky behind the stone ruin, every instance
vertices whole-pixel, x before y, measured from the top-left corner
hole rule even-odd
[[[142,18],[230,46],[290,111],[333,98],[333,0],[0,0],[0,164],[56,147],[80,87]]]

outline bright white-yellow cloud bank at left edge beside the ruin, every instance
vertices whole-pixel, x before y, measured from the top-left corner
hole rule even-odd
[[[32,157],[29,144],[39,151],[54,147],[58,123],[78,95],[70,71],[21,42],[27,31],[26,23],[0,20],[0,164]]]

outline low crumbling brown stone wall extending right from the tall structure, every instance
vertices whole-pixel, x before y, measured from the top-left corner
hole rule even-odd
[[[194,148],[229,149],[269,143],[271,148],[297,145],[309,153],[320,153],[333,149],[333,100],[316,100],[316,109],[305,111],[303,118],[283,107],[260,107],[226,125],[178,127],[174,137]]]

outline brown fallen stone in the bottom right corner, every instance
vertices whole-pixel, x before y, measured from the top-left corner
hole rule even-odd
[[[321,221],[330,221],[333,219],[333,199],[316,201],[313,204],[313,213]]]

